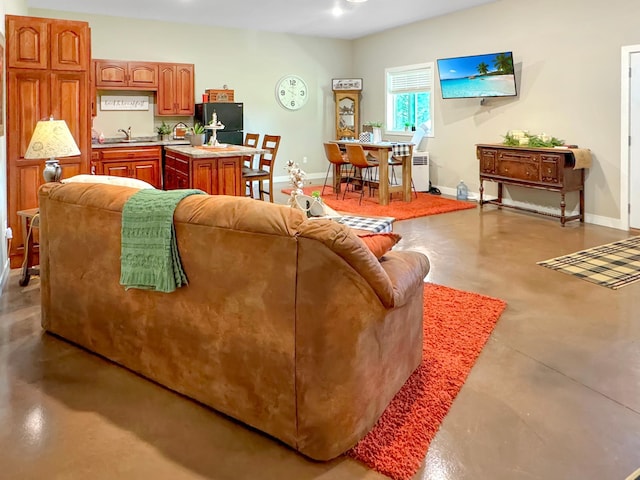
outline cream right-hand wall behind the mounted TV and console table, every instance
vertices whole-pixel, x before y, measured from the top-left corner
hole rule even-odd
[[[501,142],[510,129],[546,132],[593,151],[586,211],[607,224],[620,216],[620,50],[640,43],[638,18],[637,0],[502,0],[357,40],[354,69],[368,92],[363,118],[383,118],[385,67],[512,50],[515,99],[442,100],[437,86],[435,137],[426,142],[433,183],[453,188],[462,178],[477,192],[474,144]],[[547,192],[512,194],[559,202]],[[569,197],[574,206],[577,195]]]

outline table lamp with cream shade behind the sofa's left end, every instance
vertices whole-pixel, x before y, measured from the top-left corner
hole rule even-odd
[[[45,182],[58,182],[62,176],[62,168],[55,157],[73,157],[80,155],[67,122],[64,120],[40,120],[33,131],[31,141],[24,158],[35,160],[46,158],[42,176]]]

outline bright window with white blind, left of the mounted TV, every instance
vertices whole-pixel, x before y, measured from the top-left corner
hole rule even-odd
[[[387,68],[386,92],[387,133],[404,132],[409,125],[433,136],[433,62]]]

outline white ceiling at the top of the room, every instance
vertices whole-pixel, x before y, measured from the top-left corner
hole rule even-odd
[[[29,8],[355,39],[495,0],[27,0]],[[335,16],[339,8],[342,15]]]

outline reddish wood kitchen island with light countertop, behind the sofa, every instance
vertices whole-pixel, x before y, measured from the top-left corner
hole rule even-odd
[[[164,189],[198,188],[210,195],[245,195],[243,157],[264,153],[259,148],[165,146]]]

